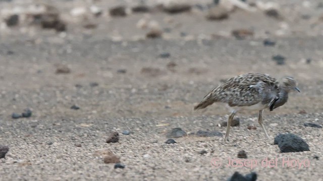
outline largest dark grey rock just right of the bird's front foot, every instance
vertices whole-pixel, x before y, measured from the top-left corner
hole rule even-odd
[[[292,133],[279,134],[275,137],[275,144],[278,144],[281,152],[309,151],[308,144],[299,136]]]

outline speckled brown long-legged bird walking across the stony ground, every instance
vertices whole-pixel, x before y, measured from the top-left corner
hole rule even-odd
[[[258,123],[265,137],[270,139],[262,122],[262,113],[266,109],[273,111],[283,106],[291,91],[300,92],[297,85],[297,81],[290,76],[285,76],[278,81],[275,77],[263,73],[241,74],[213,88],[194,107],[194,110],[204,109],[217,102],[226,103],[231,111],[227,121],[225,141],[229,141],[230,125],[238,111],[258,111]]]

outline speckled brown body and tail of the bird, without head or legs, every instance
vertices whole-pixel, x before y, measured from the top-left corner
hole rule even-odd
[[[234,106],[252,106],[259,102],[269,104],[279,93],[279,81],[267,74],[248,73],[228,79],[212,89],[194,110],[203,109],[215,103],[228,103]]]

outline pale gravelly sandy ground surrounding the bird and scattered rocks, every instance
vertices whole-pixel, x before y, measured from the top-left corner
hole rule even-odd
[[[65,14],[86,5],[48,2]],[[257,180],[323,180],[322,129],[303,125],[323,124],[323,23],[313,26],[323,8],[318,8],[319,1],[276,2],[283,21],[238,10],[228,20],[214,22],[194,10],[103,16],[90,30],[73,20],[65,33],[22,25],[3,29],[0,144],[10,151],[0,159],[0,180],[226,180],[235,171],[255,171]],[[99,3],[105,9],[118,4]],[[16,4],[0,5],[1,9]],[[310,19],[302,19],[304,14]],[[146,16],[171,31],[160,39],[144,39],[147,30],[136,24]],[[171,23],[166,21],[170,18]],[[231,30],[239,28],[252,29],[254,36],[235,39]],[[264,46],[265,38],[276,45]],[[170,57],[161,58],[165,52]],[[285,64],[277,65],[275,55],[286,57]],[[71,72],[57,74],[60,65]],[[242,112],[229,143],[224,137],[190,134],[176,138],[177,144],[165,144],[167,132],[176,127],[187,133],[225,134],[226,128],[218,127],[227,119],[223,105],[192,109],[224,79],[246,72],[290,75],[299,82],[301,93],[292,93],[286,105],[264,113],[272,140],[265,140],[256,112]],[[70,109],[73,105],[80,109]],[[11,118],[26,108],[33,111],[32,117]],[[257,129],[248,130],[248,125]],[[124,130],[133,134],[121,134]],[[105,143],[112,131],[119,132],[119,142]],[[302,137],[310,151],[281,153],[272,143],[277,134],[287,132]],[[114,169],[114,164],[103,163],[94,154],[99,149],[113,151],[126,167]],[[200,154],[201,150],[207,153]],[[239,159],[255,166],[227,166],[228,160],[238,159],[240,150],[248,158]],[[266,159],[274,160],[275,166],[262,162]]]

